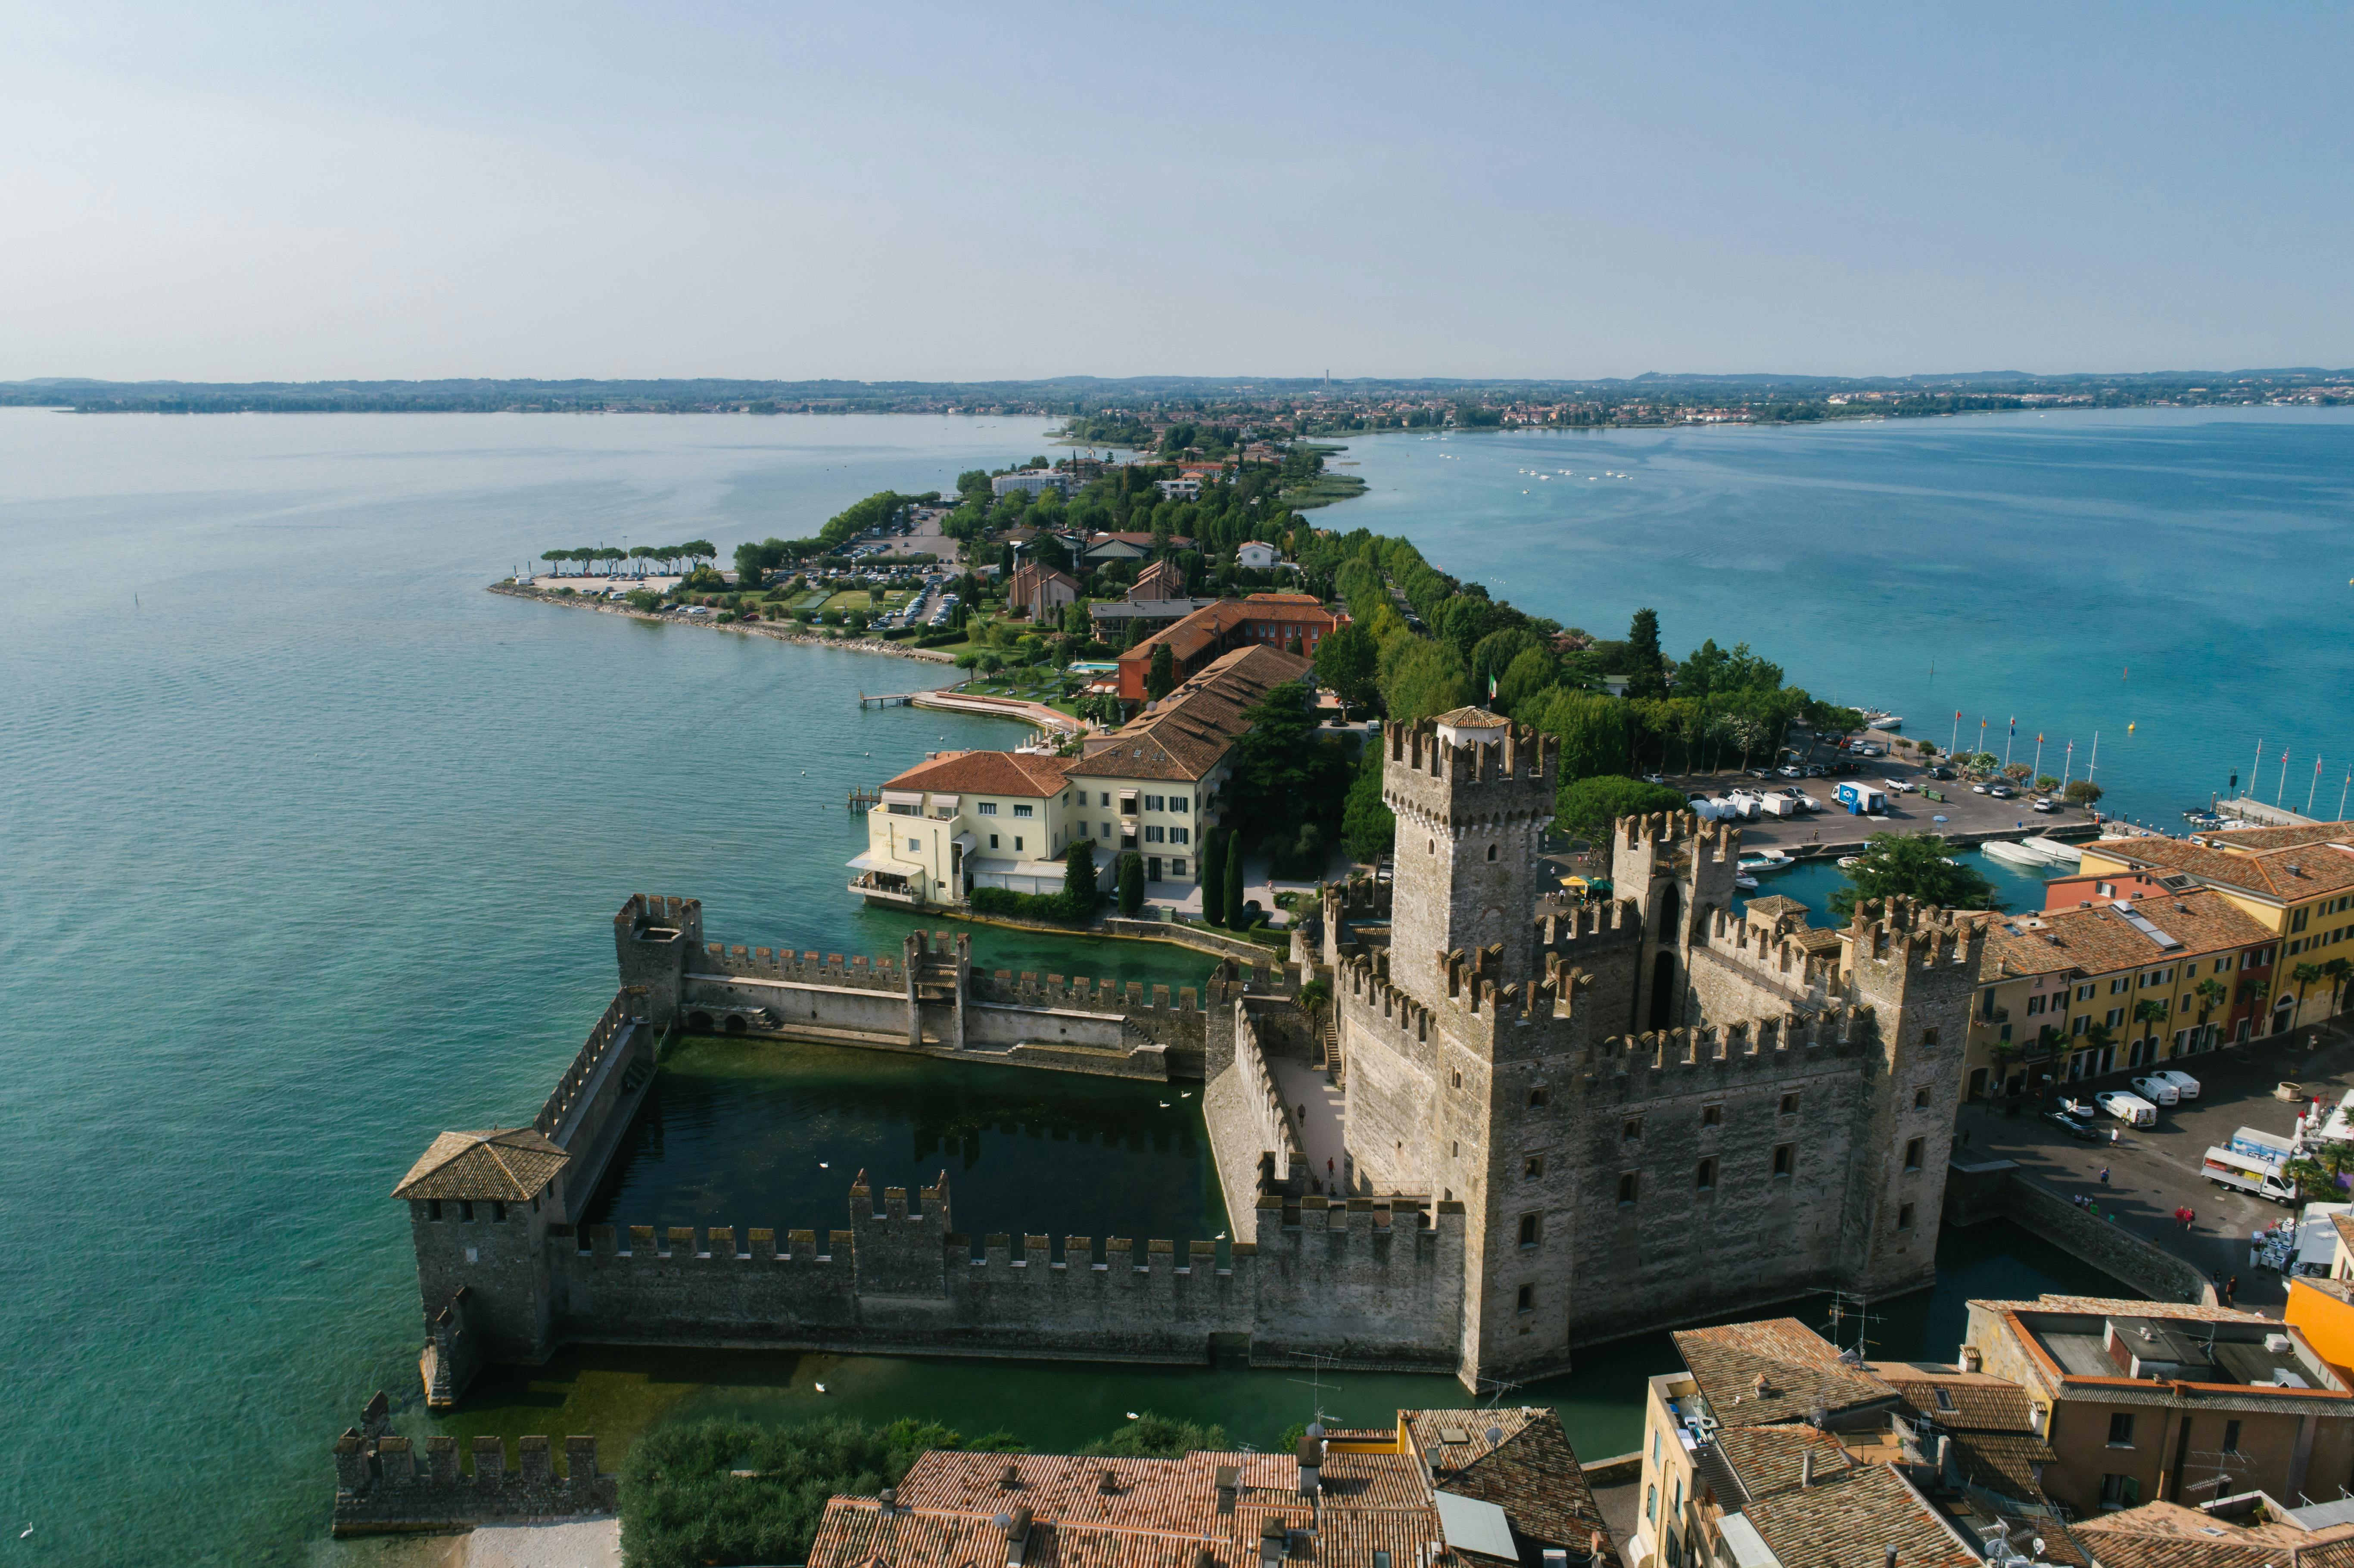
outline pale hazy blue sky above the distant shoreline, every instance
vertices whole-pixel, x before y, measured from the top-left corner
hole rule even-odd
[[[2354,7],[0,0],[0,379],[2354,365]]]

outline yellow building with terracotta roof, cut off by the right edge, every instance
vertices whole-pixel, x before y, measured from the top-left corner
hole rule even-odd
[[[2354,972],[2354,822],[2232,829],[2189,838],[2100,838],[2083,876],[2213,888],[2279,939],[2253,1034],[2316,1024],[2345,1003]]]

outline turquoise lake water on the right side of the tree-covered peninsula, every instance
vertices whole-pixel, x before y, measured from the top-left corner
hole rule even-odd
[[[1678,657],[1747,640],[1940,746],[1956,709],[1996,753],[2017,718],[2053,775],[2097,735],[2104,805],[2159,826],[2257,742],[2293,810],[2335,815],[2354,763],[2354,410],[1394,433],[1342,461],[1370,490],[1325,518],[1535,614],[1617,638],[1653,605]]]

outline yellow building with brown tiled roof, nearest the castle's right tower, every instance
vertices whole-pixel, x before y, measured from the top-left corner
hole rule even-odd
[[[1970,1099],[2152,1067],[2236,1034],[2243,986],[2272,972],[2272,932],[2220,890],[2152,888],[2072,878],[2053,883],[2060,906],[1996,921],[1991,977],[1970,1008]],[[2097,897],[2062,904],[2064,890]]]

